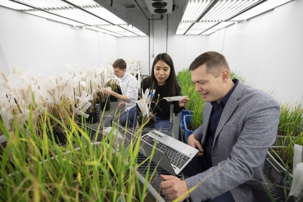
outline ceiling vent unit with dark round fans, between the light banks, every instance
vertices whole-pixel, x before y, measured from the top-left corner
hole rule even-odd
[[[173,0],[144,0],[152,15],[171,14],[173,12]]]

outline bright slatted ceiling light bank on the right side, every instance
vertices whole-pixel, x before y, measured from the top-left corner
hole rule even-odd
[[[210,34],[290,1],[292,0],[189,0],[176,34]]]

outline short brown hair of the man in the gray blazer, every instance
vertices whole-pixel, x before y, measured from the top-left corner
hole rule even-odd
[[[206,73],[212,74],[217,78],[221,71],[227,69],[230,72],[229,65],[222,54],[215,51],[206,52],[199,55],[189,66],[189,71],[192,71],[201,65],[206,65]]]

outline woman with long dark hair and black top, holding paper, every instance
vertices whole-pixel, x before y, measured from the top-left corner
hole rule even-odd
[[[150,109],[156,118],[154,128],[169,128],[170,105],[174,105],[174,113],[177,114],[181,112],[189,99],[187,96],[184,96],[180,101],[173,102],[167,102],[166,99],[163,99],[163,97],[178,96],[181,93],[174,63],[168,54],[159,54],[155,58],[150,76],[141,82],[143,92],[145,92],[147,88],[156,90],[153,102],[150,105]]]

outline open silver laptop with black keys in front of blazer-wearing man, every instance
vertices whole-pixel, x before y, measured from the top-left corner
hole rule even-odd
[[[116,123],[113,122],[113,124]],[[117,124],[115,127],[119,127],[118,136],[122,135],[127,138],[128,141],[137,141],[139,139],[138,136]],[[116,132],[114,134],[117,135]],[[156,146],[155,148],[154,145]],[[198,153],[198,149],[158,130],[152,130],[141,136],[139,152],[145,157],[149,157],[153,150],[154,155],[151,158],[151,161],[174,176],[179,175],[185,166]]]

